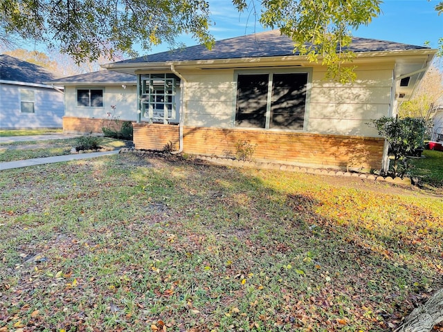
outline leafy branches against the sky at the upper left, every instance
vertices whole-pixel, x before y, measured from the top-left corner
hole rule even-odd
[[[59,48],[76,62],[133,54],[188,33],[210,47],[209,7],[201,0],[0,0],[0,29]],[[1,34],[0,34],[1,35]]]

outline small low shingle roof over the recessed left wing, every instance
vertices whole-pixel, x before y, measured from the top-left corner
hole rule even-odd
[[[118,73],[116,71],[94,71],[92,73],[63,77],[58,80],[51,81],[52,84],[136,84],[136,75]]]

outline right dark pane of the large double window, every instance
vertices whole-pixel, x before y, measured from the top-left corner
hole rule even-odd
[[[269,128],[302,130],[307,73],[274,74]]]

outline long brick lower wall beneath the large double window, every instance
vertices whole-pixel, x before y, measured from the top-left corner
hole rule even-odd
[[[179,148],[179,126],[133,123],[136,149]],[[183,152],[233,158],[236,143],[256,145],[253,159],[309,167],[381,169],[384,140],[360,136],[184,127]]]

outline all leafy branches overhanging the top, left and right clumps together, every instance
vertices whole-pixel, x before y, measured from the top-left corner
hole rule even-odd
[[[0,0],[0,36],[4,33],[57,46],[76,62],[134,55],[166,42],[177,46],[186,33],[210,48],[208,0]],[[330,78],[354,79],[350,28],[370,24],[381,0],[232,0],[240,12],[250,10],[265,28],[280,28],[294,49],[328,68]],[[252,9],[251,9],[252,8]],[[259,9],[260,13],[259,13]],[[435,6],[440,14],[443,1]],[[3,34],[2,34],[3,32]],[[1,42],[1,40],[0,40]],[[443,47],[443,46],[442,46]],[[336,50],[339,52],[337,53]],[[344,66],[347,64],[347,66]]]

